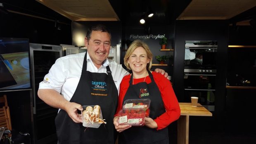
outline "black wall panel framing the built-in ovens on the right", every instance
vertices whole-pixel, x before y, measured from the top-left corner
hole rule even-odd
[[[228,21],[227,20],[177,20],[174,37],[174,68],[173,88],[179,102],[184,95],[184,55],[186,40],[218,41],[216,98],[213,118],[216,125],[223,124],[225,109],[226,61],[228,50]]]

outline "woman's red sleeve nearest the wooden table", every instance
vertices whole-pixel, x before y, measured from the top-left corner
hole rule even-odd
[[[180,106],[173,91],[170,80],[160,73],[152,72],[156,85],[159,87],[166,112],[154,119],[157,124],[156,130],[161,130],[180,117]]]

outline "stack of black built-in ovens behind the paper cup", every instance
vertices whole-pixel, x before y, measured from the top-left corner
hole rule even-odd
[[[198,102],[209,111],[214,111],[217,49],[217,41],[185,41],[184,101],[199,97]]]

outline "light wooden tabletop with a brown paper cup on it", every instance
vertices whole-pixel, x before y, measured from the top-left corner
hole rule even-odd
[[[179,105],[181,116],[212,116],[212,113],[205,109],[201,104],[194,107],[191,103],[179,102]]]

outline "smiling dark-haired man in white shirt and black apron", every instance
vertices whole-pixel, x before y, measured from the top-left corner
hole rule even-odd
[[[92,26],[85,38],[87,52],[57,59],[40,83],[39,98],[60,109],[55,118],[59,144],[114,144],[119,85],[129,73],[107,59],[110,40],[105,26]],[[78,114],[82,105],[100,105],[107,124],[85,130]]]

